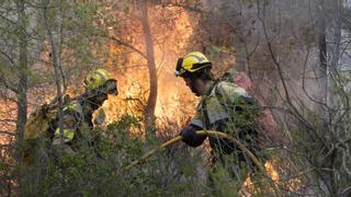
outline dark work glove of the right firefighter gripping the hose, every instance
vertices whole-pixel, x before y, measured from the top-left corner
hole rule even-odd
[[[180,132],[180,136],[182,137],[182,141],[190,147],[201,146],[207,136],[197,135],[196,134],[197,130],[201,130],[201,128],[194,125],[189,125],[188,127],[183,128],[182,131]]]

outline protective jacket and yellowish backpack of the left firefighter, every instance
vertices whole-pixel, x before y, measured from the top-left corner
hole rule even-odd
[[[65,148],[73,150],[73,144],[87,137],[87,132],[93,127],[93,112],[98,105],[89,103],[83,94],[73,100],[66,100],[63,106],[63,134],[59,131],[56,104],[45,104],[38,107],[29,118],[24,132],[24,162],[34,162],[39,141],[45,146],[57,146],[64,141]],[[90,134],[89,134],[90,135]],[[93,144],[93,141],[88,141]]]

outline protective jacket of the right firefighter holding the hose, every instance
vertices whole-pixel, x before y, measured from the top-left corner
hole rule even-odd
[[[196,135],[194,131],[207,129],[228,134],[240,139],[249,149],[254,149],[257,147],[254,119],[258,114],[253,99],[245,89],[228,81],[214,82],[202,96],[189,127],[183,130],[190,135],[184,142],[191,147],[202,144],[206,136]],[[216,155],[214,160],[233,152],[237,152],[239,160],[245,160],[241,151],[226,139],[210,137],[210,144]]]

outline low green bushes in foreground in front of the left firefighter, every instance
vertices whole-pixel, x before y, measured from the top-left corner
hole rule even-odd
[[[137,118],[125,116],[106,129],[86,130],[89,135],[73,147],[75,152],[63,151],[64,147],[41,147],[36,162],[19,169],[24,183],[21,193],[24,196],[195,193],[201,187],[196,166],[202,160],[184,148],[157,152],[148,162],[123,171],[123,166],[160,143],[158,139],[131,136],[131,128],[137,128],[138,124]],[[91,139],[93,146],[89,144]]]

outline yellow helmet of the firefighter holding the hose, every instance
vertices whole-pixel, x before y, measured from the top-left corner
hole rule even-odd
[[[192,51],[184,58],[178,59],[176,76],[183,77],[185,73],[193,73],[208,67],[211,68],[212,63],[204,54],[200,51]]]

